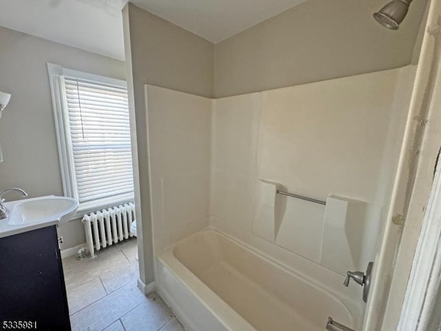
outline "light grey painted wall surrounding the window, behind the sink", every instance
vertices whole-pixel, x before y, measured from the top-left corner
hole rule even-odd
[[[12,94],[0,119],[0,189],[17,186],[30,197],[63,194],[47,62],[125,79],[122,61],[0,27],[0,91]],[[62,248],[85,242],[80,221],[59,234]]]

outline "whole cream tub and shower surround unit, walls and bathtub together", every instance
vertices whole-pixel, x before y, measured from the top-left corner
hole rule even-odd
[[[300,309],[307,303],[361,327],[362,288],[342,281],[375,259],[413,74],[407,66],[222,99],[145,86],[156,286],[191,330],[267,330],[249,313],[263,316],[260,299],[243,307],[228,292],[240,281],[283,305],[280,323],[297,316],[322,330],[326,319]],[[225,279],[210,277],[213,268]],[[233,297],[247,297],[242,287]]]

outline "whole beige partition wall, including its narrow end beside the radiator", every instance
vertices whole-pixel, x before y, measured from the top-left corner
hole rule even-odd
[[[131,3],[123,9],[125,59],[134,150],[140,279],[154,281],[145,84],[212,97],[214,46]],[[147,288],[146,291],[150,291]]]

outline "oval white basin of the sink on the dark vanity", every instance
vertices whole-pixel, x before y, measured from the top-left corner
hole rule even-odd
[[[78,204],[75,199],[55,196],[21,200],[10,209],[8,224],[67,222],[75,214]]]

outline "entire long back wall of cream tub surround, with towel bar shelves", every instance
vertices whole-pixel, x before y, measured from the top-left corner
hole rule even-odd
[[[342,275],[365,270],[384,223],[412,69],[216,99],[212,224],[237,227]],[[268,182],[323,201],[333,195],[349,209],[336,228],[329,199],[325,208],[274,194],[267,234],[256,222]]]

